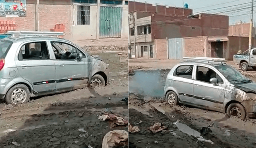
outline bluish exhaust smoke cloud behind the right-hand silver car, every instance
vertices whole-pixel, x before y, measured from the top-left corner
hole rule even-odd
[[[169,70],[134,71],[129,77],[129,93],[163,97]]]

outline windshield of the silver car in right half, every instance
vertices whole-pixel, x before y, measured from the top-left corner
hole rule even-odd
[[[224,75],[224,77],[226,77],[226,79],[228,79],[228,81],[232,84],[252,82],[247,77],[242,75],[242,73],[240,73],[238,70],[229,65],[220,65],[216,66],[215,68],[218,69],[218,71],[220,71],[220,73],[222,73],[222,75]]]

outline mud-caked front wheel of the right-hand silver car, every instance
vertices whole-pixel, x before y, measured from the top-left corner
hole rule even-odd
[[[231,103],[228,106],[227,114],[229,116],[236,116],[240,118],[241,120],[244,120],[246,117],[246,112],[244,107],[239,103]]]

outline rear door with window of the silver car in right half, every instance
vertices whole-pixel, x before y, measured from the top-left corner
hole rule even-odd
[[[182,103],[193,101],[193,73],[194,65],[180,65],[174,71],[172,86],[178,92],[178,97]]]

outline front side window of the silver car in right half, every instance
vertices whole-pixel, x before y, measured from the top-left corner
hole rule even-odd
[[[218,83],[223,83],[221,77],[212,69],[197,66],[196,68],[196,80],[210,83],[210,79],[216,78]]]

